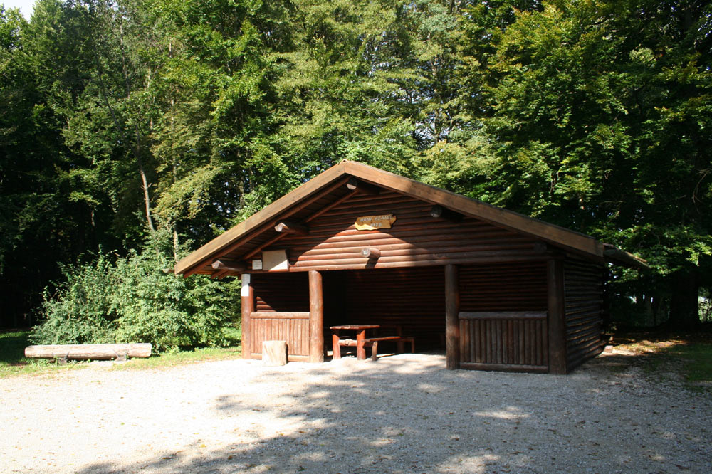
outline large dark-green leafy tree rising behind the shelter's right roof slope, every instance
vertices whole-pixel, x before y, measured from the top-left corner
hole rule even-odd
[[[486,199],[641,253],[656,271],[646,293],[683,324],[698,322],[712,249],[710,14],[696,1],[518,14],[487,122],[499,159]]]

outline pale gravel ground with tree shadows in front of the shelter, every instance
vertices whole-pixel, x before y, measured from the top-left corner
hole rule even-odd
[[[16,376],[0,379],[0,472],[712,472],[712,397],[630,359],[567,376],[447,371],[439,354]]]

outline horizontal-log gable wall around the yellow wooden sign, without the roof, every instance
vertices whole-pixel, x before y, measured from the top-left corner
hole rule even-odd
[[[394,218],[390,228],[359,230],[355,225],[359,218],[387,216]],[[252,258],[263,263],[283,251],[288,267],[281,270],[358,270],[541,260],[546,257],[544,249],[530,236],[382,191],[349,196],[311,220],[306,229],[280,238]]]

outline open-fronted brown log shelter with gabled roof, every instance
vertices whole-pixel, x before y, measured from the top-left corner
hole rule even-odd
[[[242,278],[243,353],[323,362],[334,325],[402,327],[449,369],[565,374],[604,347],[607,265],[582,233],[343,161],[177,263]]]

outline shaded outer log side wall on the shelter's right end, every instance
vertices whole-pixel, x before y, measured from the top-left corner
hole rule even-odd
[[[567,370],[603,350],[603,274],[599,265],[564,263]]]

